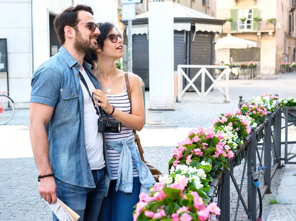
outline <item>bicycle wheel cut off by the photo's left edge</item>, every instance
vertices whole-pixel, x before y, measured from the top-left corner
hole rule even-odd
[[[14,102],[8,92],[0,92],[0,125],[8,124],[14,116]]]

